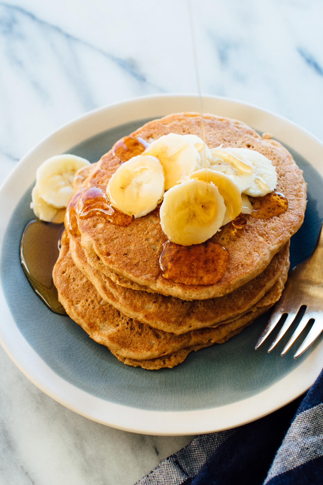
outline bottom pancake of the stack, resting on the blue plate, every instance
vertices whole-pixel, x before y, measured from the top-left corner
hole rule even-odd
[[[80,272],[71,257],[69,241],[62,238],[53,279],[67,314],[96,342],[101,343],[124,363],[146,369],[173,367],[193,350],[223,342],[240,332],[264,313],[280,297],[287,269],[273,288],[250,310],[236,320],[181,335],[156,330],[123,315],[101,298],[92,283]]]

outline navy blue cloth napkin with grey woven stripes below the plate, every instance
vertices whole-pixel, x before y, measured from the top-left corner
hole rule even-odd
[[[323,371],[302,397],[239,428],[201,435],[135,485],[322,485]]]

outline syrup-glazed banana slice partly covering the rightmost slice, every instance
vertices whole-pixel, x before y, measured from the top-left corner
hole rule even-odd
[[[222,172],[226,175],[233,175],[234,181],[241,192],[250,187],[255,179],[255,173],[250,164],[239,160],[239,158],[227,151],[227,148],[211,148],[211,153],[211,170]]]

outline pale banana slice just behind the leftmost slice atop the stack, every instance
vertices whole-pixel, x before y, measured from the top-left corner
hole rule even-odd
[[[200,168],[201,157],[195,146],[183,135],[169,133],[154,140],[142,155],[157,157],[165,174],[165,190]]]

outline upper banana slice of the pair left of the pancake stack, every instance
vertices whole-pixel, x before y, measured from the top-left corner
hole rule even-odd
[[[90,165],[90,162],[70,154],[55,155],[45,160],[36,172],[36,185],[45,202],[57,208],[67,207],[73,195],[74,175],[85,165]]]

